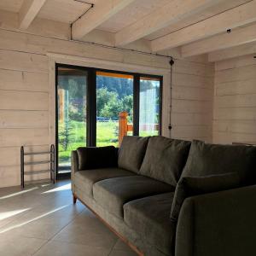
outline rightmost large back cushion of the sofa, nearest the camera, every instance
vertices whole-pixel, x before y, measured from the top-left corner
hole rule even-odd
[[[256,147],[194,141],[182,177],[237,172],[242,184],[256,182]]]

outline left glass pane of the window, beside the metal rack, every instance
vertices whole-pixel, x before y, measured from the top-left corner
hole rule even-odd
[[[70,172],[71,151],[86,144],[86,72],[58,67],[58,172]]]

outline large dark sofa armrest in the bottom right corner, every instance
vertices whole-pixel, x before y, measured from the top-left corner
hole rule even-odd
[[[256,185],[197,195],[183,202],[175,256],[256,252]]]

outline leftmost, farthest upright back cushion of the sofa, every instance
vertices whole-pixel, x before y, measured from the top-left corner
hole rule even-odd
[[[119,148],[119,168],[139,172],[148,145],[148,137],[125,136]]]

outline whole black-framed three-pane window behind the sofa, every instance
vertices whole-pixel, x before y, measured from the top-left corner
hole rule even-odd
[[[71,151],[119,146],[119,115],[128,135],[160,134],[162,78],[56,64],[57,177],[70,172]]]

